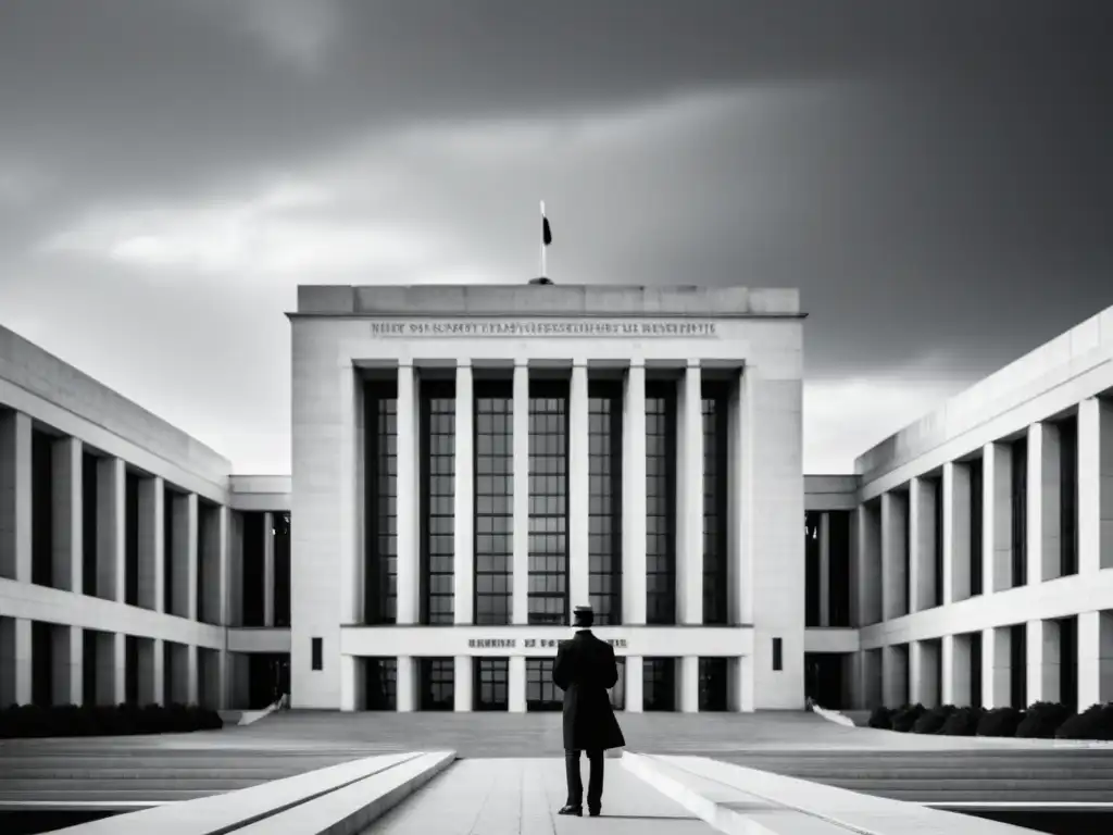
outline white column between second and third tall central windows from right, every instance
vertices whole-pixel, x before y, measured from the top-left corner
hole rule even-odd
[[[646,364],[630,363],[622,415],[622,622],[646,622]],[[627,704],[630,704],[629,659]],[[638,659],[641,710],[641,659]],[[630,709],[629,707],[627,708]]]

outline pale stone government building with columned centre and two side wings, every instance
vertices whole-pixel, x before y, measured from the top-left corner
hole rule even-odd
[[[559,709],[585,603],[621,710],[1113,700],[1113,308],[853,475],[802,471],[792,289],[289,322],[289,475],[0,328],[0,705]]]

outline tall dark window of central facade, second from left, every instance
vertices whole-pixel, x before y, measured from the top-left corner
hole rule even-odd
[[[456,397],[452,381],[421,386],[421,622],[454,621]]]

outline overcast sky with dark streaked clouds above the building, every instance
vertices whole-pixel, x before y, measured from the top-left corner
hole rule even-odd
[[[0,324],[289,466],[298,283],[795,286],[805,465],[1113,304],[1107,0],[3,0]]]

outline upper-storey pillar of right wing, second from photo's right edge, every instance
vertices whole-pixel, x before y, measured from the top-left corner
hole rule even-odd
[[[1060,434],[1053,423],[1028,426],[1027,493],[1027,579],[1034,584],[1054,580],[1061,568]]]

